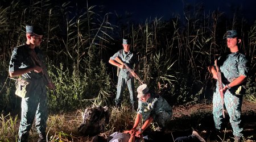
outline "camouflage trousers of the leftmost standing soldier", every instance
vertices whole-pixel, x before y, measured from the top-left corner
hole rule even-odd
[[[21,120],[19,126],[19,141],[28,141],[28,134],[36,119],[35,127],[39,135],[45,135],[47,112],[46,86],[42,81],[33,81],[21,103]]]

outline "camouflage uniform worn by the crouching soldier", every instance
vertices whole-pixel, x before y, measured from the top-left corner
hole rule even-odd
[[[147,120],[151,116],[160,127],[171,120],[172,108],[160,95],[150,93],[146,102],[139,99],[137,113],[142,114],[142,119]]]

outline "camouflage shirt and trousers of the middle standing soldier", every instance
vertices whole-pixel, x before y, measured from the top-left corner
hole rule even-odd
[[[112,57],[110,57],[110,59],[115,60],[115,57],[118,57],[120,60],[122,60],[122,62],[126,63],[131,69],[133,69],[134,64],[139,63],[137,56],[131,51],[125,53],[125,51],[121,49]],[[134,77],[130,75],[127,69],[121,69],[118,76],[117,96],[115,97],[116,105],[120,105],[123,99],[122,93],[126,85],[130,93],[130,102],[132,105],[134,105]]]

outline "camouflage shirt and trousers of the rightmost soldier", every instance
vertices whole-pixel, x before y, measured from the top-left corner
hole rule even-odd
[[[226,58],[225,58],[226,57]],[[243,75],[247,76],[249,67],[245,55],[235,52],[218,59],[218,66],[220,66],[222,74],[222,85],[228,85],[237,77]],[[224,104],[230,116],[230,123],[233,128],[233,135],[242,137],[243,128],[241,127],[241,107],[242,107],[242,94],[245,93],[244,83],[231,87],[224,94]],[[213,94],[213,119],[215,128],[220,130],[222,127],[222,101],[221,95],[218,91],[218,82],[216,90]]]

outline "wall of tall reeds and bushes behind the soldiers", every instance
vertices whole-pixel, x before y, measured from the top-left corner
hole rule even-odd
[[[215,55],[228,51],[223,35],[229,29],[242,35],[241,51],[250,59],[249,78],[255,82],[256,24],[246,23],[239,12],[229,19],[218,10],[205,14],[200,4],[185,5],[184,14],[170,20],[135,23],[128,13],[122,18],[86,2],[26,2],[6,1],[0,7],[0,33],[4,35],[0,37],[0,108],[4,112],[19,107],[15,81],[8,78],[7,70],[13,47],[25,40],[26,24],[38,23],[45,31],[40,48],[57,87],[57,94],[48,92],[52,111],[112,105],[116,68],[108,60],[122,48],[124,36],[133,39],[131,47],[139,57],[138,74],[143,82],[172,104],[210,101],[214,82],[207,66]],[[255,97],[255,87],[250,86],[247,93]]]

